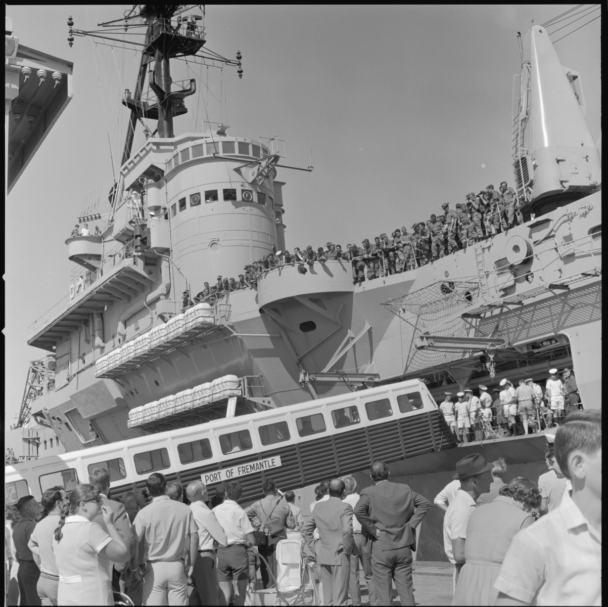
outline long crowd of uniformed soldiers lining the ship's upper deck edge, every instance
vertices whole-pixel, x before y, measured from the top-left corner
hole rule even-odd
[[[316,251],[308,245],[303,250],[296,247],[293,253],[271,252],[246,265],[238,280],[218,276],[215,285],[204,283],[194,300],[189,291],[184,291],[182,309],[199,302],[213,304],[230,291],[255,288],[265,271],[283,265],[297,265],[298,271],[306,274],[306,266],[312,268],[314,262],[342,259],[352,263],[353,282],[361,284],[366,276],[373,280],[418,268],[523,223],[517,194],[506,181],[500,183],[499,190],[490,184],[477,194],[468,193],[466,202],[457,203],[454,210],[449,203],[443,203],[441,208],[443,215],[432,213],[426,222],[413,224],[411,232],[402,226],[390,237],[384,232],[376,236],[373,243],[365,238],[361,246],[349,243],[345,249],[328,242]]]

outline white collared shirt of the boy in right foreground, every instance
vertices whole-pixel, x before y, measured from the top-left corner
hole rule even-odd
[[[494,588],[531,605],[601,605],[602,537],[568,493],[511,541]]]

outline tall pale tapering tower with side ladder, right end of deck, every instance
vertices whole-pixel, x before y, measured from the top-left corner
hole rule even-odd
[[[534,26],[515,88],[513,167],[517,193],[536,215],[601,185],[601,159],[584,116],[581,78],[564,68],[547,30]]]

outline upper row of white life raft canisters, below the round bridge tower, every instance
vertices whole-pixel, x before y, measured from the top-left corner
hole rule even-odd
[[[139,356],[162,349],[171,340],[214,323],[213,308],[209,303],[197,303],[184,313],[172,316],[167,322],[138,335],[95,361],[95,376],[100,377]]]

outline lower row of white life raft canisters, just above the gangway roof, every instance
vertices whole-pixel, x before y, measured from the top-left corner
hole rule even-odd
[[[140,428],[164,418],[187,413],[192,409],[243,395],[241,380],[236,375],[224,375],[178,394],[135,407],[129,412],[129,428]]]

